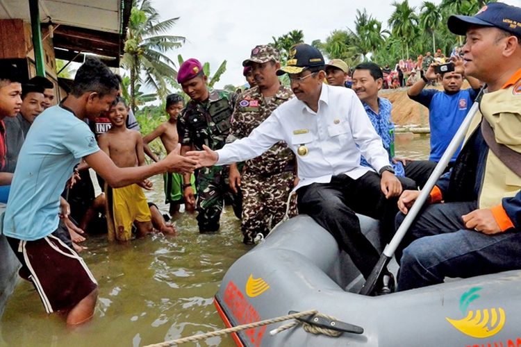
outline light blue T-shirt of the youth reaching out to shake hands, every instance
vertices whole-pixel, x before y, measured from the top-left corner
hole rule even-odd
[[[56,105],[36,117],[18,157],[3,233],[34,241],[56,230],[65,183],[80,159],[97,151],[94,134],[71,111]]]

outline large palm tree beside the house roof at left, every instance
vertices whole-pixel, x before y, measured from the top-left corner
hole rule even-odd
[[[163,97],[168,92],[169,79],[177,76],[174,62],[165,53],[179,48],[185,37],[164,35],[177,19],[179,17],[160,22],[159,13],[152,7],[151,0],[133,0],[122,67],[130,71],[130,104],[134,111],[139,83],[144,82]]]

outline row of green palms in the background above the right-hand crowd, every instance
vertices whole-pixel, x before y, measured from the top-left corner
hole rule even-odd
[[[496,0],[486,1],[495,2]],[[325,42],[315,40],[316,46],[328,58],[340,58],[353,66],[361,60],[379,65],[394,66],[400,59],[412,58],[427,51],[441,49],[449,54],[454,46],[463,44],[463,36],[454,35],[447,28],[450,15],[474,15],[483,0],[442,0],[438,5],[424,1],[416,8],[408,0],[392,3],[394,11],[386,21],[373,18],[365,9],[356,10],[354,28],[333,30]]]

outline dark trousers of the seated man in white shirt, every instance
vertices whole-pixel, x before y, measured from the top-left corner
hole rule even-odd
[[[378,219],[383,242],[388,242],[394,235],[398,212],[397,197],[386,199],[380,180],[372,171],[356,180],[340,174],[330,183],[313,183],[297,191],[299,213],[308,214],[328,230],[365,278],[377,264],[379,253],[363,235],[355,213]],[[404,189],[415,189],[412,180],[399,180]]]

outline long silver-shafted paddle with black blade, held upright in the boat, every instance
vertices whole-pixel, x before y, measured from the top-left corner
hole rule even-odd
[[[389,264],[392,258],[392,255],[395,254],[396,248],[398,248],[398,245],[400,244],[400,242],[402,242],[402,239],[404,238],[408,228],[413,223],[418,212],[420,212],[420,209],[424,205],[425,201],[427,201],[427,198],[429,197],[432,188],[434,187],[434,185],[436,185],[436,181],[443,174],[443,171],[445,170],[445,167],[447,167],[447,164],[449,164],[452,155],[456,153],[459,145],[461,144],[461,142],[463,142],[465,134],[467,133],[467,130],[470,126],[470,122],[472,121],[472,118],[474,118],[474,115],[476,115],[476,112],[479,110],[479,101],[481,101],[481,96],[483,96],[483,90],[485,90],[485,88],[486,85],[483,86],[479,91],[476,100],[472,104],[472,108],[470,108],[469,112],[465,116],[465,119],[463,119],[461,126],[459,126],[458,131],[456,131],[456,134],[454,134],[454,137],[452,137],[449,146],[445,150],[445,153],[443,153],[438,164],[436,164],[436,167],[432,171],[432,174],[429,177],[429,180],[427,180],[427,183],[425,183],[422,192],[420,192],[420,195],[416,199],[415,203],[413,204],[411,209],[409,209],[408,214],[406,214],[405,219],[402,222],[402,225],[400,225],[398,230],[396,231],[395,236],[392,237],[389,244],[383,250],[380,259],[378,260],[376,266],[374,266],[374,268],[372,269],[370,276],[367,278],[367,280],[365,280],[365,283],[362,289],[360,290],[360,294],[369,295],[374,290],[374,287],[376,286],[378,280],[382,276],[383,269],[386,269],[387,265]]]

